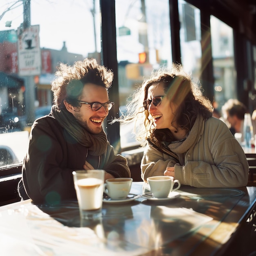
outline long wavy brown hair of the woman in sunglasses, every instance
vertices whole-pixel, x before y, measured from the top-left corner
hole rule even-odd
[[[209,99],[202,95],[200,87],[195,84],[191,77],[183,71],[182,65],[173,64],[171,70],[162,68],[151,74],[150,79],[144,81],[132,96],[132,101],[128,103],[128,114],[121,117],[121,122],[135,120],[137,140],[141,141],[141,145],[146,143],[146,139],[150,139],[158,147],[162,147],[161,141],[174,141],[169,129],[156,129],[153,118],[148,110],[144,109],[143,101],[148,97],[148,88],[153,83],[162,83],[166,96],[170,99],[170,103],[175,103],[178,108],[175,113],[174,120],[170,124],[176,129],[191,130],[198,114],[204,119],[212,116],[213,107]],[[142,124],[143,125],[142,125]]]

